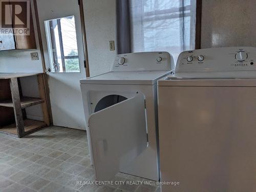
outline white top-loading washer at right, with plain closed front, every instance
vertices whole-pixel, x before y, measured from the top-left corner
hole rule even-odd
[[[256,190],[255,48],[182,52],[158,94],[162,192]]]

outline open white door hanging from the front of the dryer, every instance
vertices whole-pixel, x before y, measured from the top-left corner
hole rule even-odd
[[[144,96],[124,100],[92,114],[89,128],[96,179],[112,179],[147,147]]]

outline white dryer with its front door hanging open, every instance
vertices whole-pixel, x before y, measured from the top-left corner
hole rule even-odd
[[[172,69],[167,52],[129,53],[110,72],[80,80],[97,180],[118,172],[159,180],[157,80]]]

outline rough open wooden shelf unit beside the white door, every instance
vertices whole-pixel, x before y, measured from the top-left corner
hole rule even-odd
[[[24,97],[18,80],[34,75],[40,98]],[[21,138],[50,125],[45,84],[43,73],[0,73],[0,132]],[[36,104],[41,104],[44,121],[27,119],[25,108]]]

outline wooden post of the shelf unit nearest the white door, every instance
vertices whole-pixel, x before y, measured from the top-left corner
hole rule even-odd
[[[47,98],[46,98],[46,90],[45,90],[45,83],[44,83],[44,77],[42,74],[37,75],[37,81],[38,81],[38,88],[40,93],[40,98],[44,99],[45,102],[41,104],[42,106],[42,114],[44,115],[44,121],[47,124],[47,126],[50,125],[50,118],[47,108]]]

